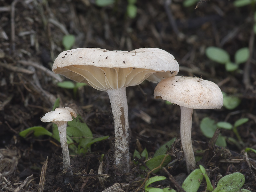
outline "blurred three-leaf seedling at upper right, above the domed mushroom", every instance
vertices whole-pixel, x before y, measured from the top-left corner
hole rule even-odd
[[[227,71],[235,71],[238,69],[239,64],[249,59],[250,52],[248,47],[237,50],[235,53],[235,62],[230,60],[228,52],[218,47],[207,47],[205,54],[210,60],[225,65]]]

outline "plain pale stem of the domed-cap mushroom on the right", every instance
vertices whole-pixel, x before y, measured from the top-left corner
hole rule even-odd
[[[193,109],[180,106],[180,138],[188,173],[196,166],[191,140],[192,114]]]

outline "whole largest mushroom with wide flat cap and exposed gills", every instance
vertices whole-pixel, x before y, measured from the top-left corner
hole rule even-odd
[[[179,64],[170,53],[158,48],[133,51],[77,48],[61,52],[52,71],[108,92],[115,123],[115,166],[118,172],[126,173],[130,170],[130,129],[125,88],[148,77],[159,82],[174,76]]]

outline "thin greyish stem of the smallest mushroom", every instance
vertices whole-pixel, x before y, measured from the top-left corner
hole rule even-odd
[[[67,123],[68,121],[53,122],[57,124],[60,136],[60,145],[63,154],[63,168],[68,169],[70,167],[70,157],[67,143]],[[73,175],[73,172],[68,172],[69,175]]]

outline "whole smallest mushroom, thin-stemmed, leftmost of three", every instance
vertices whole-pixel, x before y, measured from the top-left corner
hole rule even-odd
[[[73,121],[72,117],[77,117],[76,112],[69,107],[56,108],[53,111],[46,113],[41,121],[43,122],[52,122],[57,124],[59,135],[60,135],[60,145],[62,148],[63,154],[63,168],[68,169],[70,167],[70,158],[68,151],[68,143],[67,143],[67,123],[68,121]],[[68,172],[68,174],[73,174],[72,171]]]

